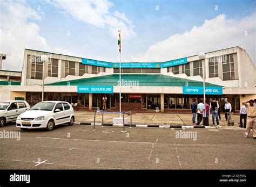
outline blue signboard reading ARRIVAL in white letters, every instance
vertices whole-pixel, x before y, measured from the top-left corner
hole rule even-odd
[[[183,94],[203,95],[203,87],[183,87]],[[206,95],[222,95],[222,87],[205,87]]]

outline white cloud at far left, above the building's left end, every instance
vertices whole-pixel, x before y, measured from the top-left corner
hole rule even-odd
[[[25,48],[77,56],[65,49],[49,46],[46,39],[39,34],[40,27],[28,21],[28,19],[41,20],[43,12],[39,13],[23,2],[1,1],[1,9],[3,7],[0,25],[0,53],[6,54],[3,69],[20,71]]]

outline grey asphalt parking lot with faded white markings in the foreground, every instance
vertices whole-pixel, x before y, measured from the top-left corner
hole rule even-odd
[[[21,132],[21,140],[0,139],[0,169],[256,169],[256,140],[244,129],[56,126]],[[177,138],[177,132],[193,133]],[[195,138],[196,137],[196,138]],[[196,140],[195,140],[196,139]]]

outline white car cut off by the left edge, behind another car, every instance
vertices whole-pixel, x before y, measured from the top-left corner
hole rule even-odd
[[[0,101],[0,127],[6,123],[16,121],[17,117],[30,109],[24,100]]]

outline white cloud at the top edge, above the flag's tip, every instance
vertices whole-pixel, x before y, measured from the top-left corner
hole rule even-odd
[[[110,12],[113,3],[108,0],[87,0],[87,1],[51,1],[58,10],[62,10],[77,20],[84,21],[99,28],[109,28],[112,37],[118,36],[118,30],[122,30],[122,39],[129,39],[136,35],[133,31],[132,20],[124,13],[118,11]]]

